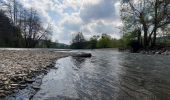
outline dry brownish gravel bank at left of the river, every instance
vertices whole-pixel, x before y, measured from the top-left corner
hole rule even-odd
[[[69,53],[56,50],[0,50],[0,97],[26,87],[38,73]]]

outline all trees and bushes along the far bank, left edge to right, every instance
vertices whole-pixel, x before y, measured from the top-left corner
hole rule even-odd
[[[86,40],[79,32],[71,45],[51,41],[53,29],[50,23],[43,25],[40,15],[33,8],[25,8],[17,0],[0,2],[0,47],[24,48],[130,48],[141,50],[167,49],[170,45],[169,0],[122,0],[120,15],[123,33],[120,39],[108,34],[92,36]],[[45,27],[44,27],[45,26]],[[118,33],[117,33],[118,34]]]

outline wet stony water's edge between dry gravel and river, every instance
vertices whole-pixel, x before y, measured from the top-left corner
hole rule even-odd
[[[66,56],[68,57],[68,56]],[[58,58],[66,58],[66,57],[61,57]],[[30,100],[33,98],[33,96],[40,90],[41,85],[42,85],[42,80],[45,75],[47,75],[51,70],[58,70],[56,68],[56,61],[55,60],[51,65],[51,67],[47,67],[46,69],[42,70],[41,72],[35,73],[34,76],[31,78],[31,81],[27,82],[25,84],[25,87],[21,87],[18,90],[15,90],[14,93],[7,95],[6,97],[0,97],[0,99],[3,100]]]

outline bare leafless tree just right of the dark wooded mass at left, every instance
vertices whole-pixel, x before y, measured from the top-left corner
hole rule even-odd
[[[26,33],[26,46],[35,47],[39,40],[50,40],[52,27],[49,24],[46,29],[42,26],[41,19],[36,10],[31,9],[27,19],[28,32]]]

